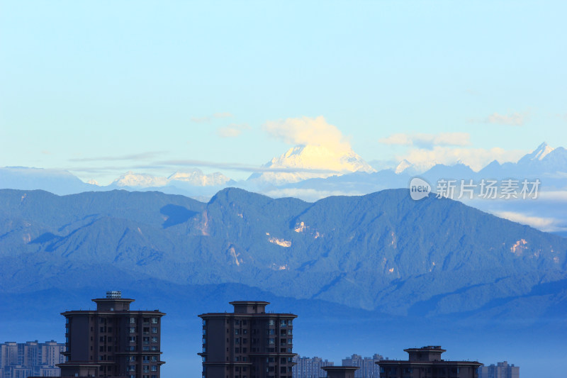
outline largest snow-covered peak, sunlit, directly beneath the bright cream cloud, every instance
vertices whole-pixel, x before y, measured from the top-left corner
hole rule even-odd
[[[279,157],[274,157],[263,168],[264,172],[252,174],[249,179],[281,185],[352,172],[376,172],[352,149],[337,150],[324,145],[298,145],[290,148]]]

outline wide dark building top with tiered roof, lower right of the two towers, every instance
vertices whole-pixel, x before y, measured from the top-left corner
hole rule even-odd
[[[408,360],[381,360],[381,378],[478,378],[476,361],[445,361],[440,346],[405,349]]]

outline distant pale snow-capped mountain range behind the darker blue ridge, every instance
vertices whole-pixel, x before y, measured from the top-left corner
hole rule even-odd
[[[317,201],[332,195],[362,195],[383,189],[408,187],[419,175],[436,189],[439,179],[455,182],[483,179],[539,180],[542,195],[537,201],[471,200],[466,204],[520,221],[540,230],[567,235],[567,212],[564,195],[567,189],[567,150],[542,143],[518,162],[493,161],[478,172],[464,164],[437,164],[425,172],[403,160],[391,169],[375,171],[352,150],[333,151],[320,146],[298,146],[260,167],[247,180],[235,182],[220,172],[204,174],[200,169],[174,172],[169,177],[127,172],[107,186],[84,183],[73,174],[53,169],[26,167],[0,168],[0,188],[43,189],[54,194],[76,194],[82,191],[162,191],[208,201],[225,187],[240,187],[279,198],[293,196]],[[458,196],[455,196],[458,197]]]

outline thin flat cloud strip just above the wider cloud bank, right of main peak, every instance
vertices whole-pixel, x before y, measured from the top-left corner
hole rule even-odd
[[[397,133],[381,138],[378,142],[385,145],[415,145],[420,148],[433,148],[434,146],[470,145],[469,133],[439,133],[439,134],[405,134]]]

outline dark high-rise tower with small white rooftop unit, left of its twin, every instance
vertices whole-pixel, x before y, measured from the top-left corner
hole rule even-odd
[[[165,313],[133,311],[134,299],[107,291],[93,299],[96,310],[65,311],[67,361],[62,377],[159,378],[161,318]]]

